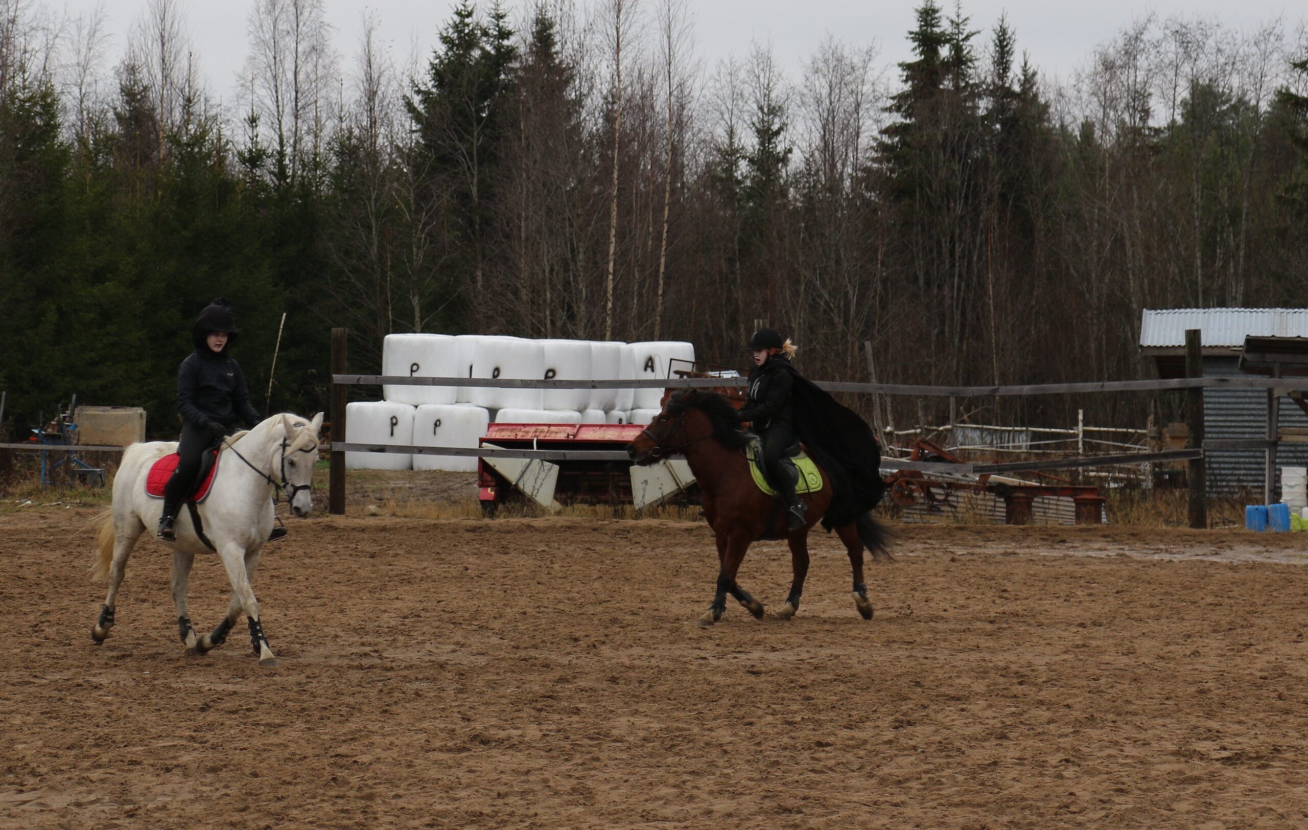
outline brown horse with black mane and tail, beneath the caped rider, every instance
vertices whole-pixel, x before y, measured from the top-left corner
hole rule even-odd
[[[678,393],[663,411],[627,446],[627,454],[638,465],[647,465],[674,453],[685,456],[704,495],[704,516],[718,543],[718,584],[701,626],[712,626],[726,611],[730,593],[755,618],[763,617],[763,604],[736,584],[736,571],[749,543],[756,539],[786,539],[794,581],[790,596],[777,614],[790,619],[799,609],[799,594],[808,573],[808,530],[821,520],[831,505],[832,480],[819,467],[823,487],[804,495],[808,524],[790,530],[789,517],[780,501],[759,490],[749,473],[744,446],[749,436],[736,424],[735,408],[722,395],[708,391]],[[863,619],[872,618],[872,604],[863,584],[863,550],[874,559],[891,559],[886,551],[884,533],[870,513],[841,528],[835,528],[849,551],[854,572],[854,606]]]

